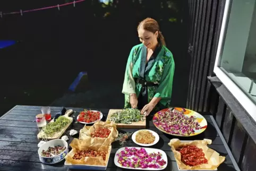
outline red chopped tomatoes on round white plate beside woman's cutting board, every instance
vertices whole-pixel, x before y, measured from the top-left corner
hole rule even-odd
[[[100,119],[100,112],[98,112],[98,111],[94,112],[92,110],[84,110],[84,111],[80,112],[80,114],[78,116],[79,122],[90,123],[90,122],[95,122],[99,119]]]

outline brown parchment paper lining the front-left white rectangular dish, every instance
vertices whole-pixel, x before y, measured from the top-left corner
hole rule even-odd
[[[94,166],[106,166],[111,151],[111,146],[98,146],[97,144],[91,144],[89,141],[79,140],[74,138],[70,146],[72,150],[67,153],[65,159],[69,164],[79,164],[79,165],[94,165]],[[83,157],[80,160],[73,159],[76,151],[79,150],[95,150],[95,151],[108,151],[106,155],[106,160],[104,161],[102,157]]]

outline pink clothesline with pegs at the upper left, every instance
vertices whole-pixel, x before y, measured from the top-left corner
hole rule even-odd
[[[56,8],[56,7],[58,8],[58,10],[60,10],[59,7],[61,7],[61,6],[66,6],[66,5],[73,4],[74,7],[75,7],[76,3],[80,3],[80,2],[83,2],[83,1],[86,1],[86,0],[78,0],[78,1],[73,1],[73,2],[69,2],[69,3],[61,4],[61,5],[58,4],[58,5],[55,5],[55,6],[48,6],[48,7],[42,7],[42,8],[32,9],[32,10],[25,10],[25,11],[20,10],[20,11],[15,11],[15,12],[8,12],[8,13],[0,12],[0,16],[1,16],[1,18],[3,18],[4,15],[10,15],[10,14],[21,14],[21,15],[23,15],[23,13],[27,13],[27,12],[47,10],[47,9]]]

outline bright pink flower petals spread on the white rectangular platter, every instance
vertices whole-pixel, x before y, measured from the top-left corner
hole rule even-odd
[[[132,168],[163,168],[166,161],[161,153],[148,153],[144,148],[125,147],[120,153],[117,153],[118,163],[123,167]]]

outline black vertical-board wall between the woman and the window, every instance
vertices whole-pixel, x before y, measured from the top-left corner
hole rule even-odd
[[[212,98],[207,76],[214,75],[222,16],[225,0],[190,0],[189,16],[191,33],[189,56],[191,58],[187,107],[208,112]]]

